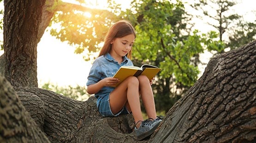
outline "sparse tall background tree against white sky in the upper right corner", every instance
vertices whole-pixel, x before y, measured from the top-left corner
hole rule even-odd
[[[203,11],[201,18],[207,19],[206,23],[216,29],[220,41],[224,41],[226,48],[230,49],[238,48],[256,39],[256,20],[244,21],[243,16],[236,13],[233,8],[236,4],[234,0],[199,0],[192,6],[198,11]],[[224,52],[224,49],[217,51]]]

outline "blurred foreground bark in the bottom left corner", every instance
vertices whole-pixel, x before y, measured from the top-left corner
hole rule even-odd
[[[10,82],[0,75],[0,143],[49,143]]]

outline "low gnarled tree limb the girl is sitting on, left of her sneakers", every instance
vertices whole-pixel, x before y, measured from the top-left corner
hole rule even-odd
[[[98,113],[94,96],[86,102],[81,102],[40,88],[19,88],[17,93],[25,108],[30,111],[32,108],[31,116],[53,143],[133,143],[135,141],[135,137],[131,134],[134,126],[132,115],[102,118]],[[32,107],[31,104],[27,104],[28,99],[34,100],[32,106],[38,106],[43,102],[44,108]],[[45,114],[42,116],[42,113]]]

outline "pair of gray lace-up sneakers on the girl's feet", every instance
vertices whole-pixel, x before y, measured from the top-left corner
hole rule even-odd
[[[134,132],[137,136],[137,140],[140,141],[146,137],[149,137],[155,131],[160,122],[161,121],[155,121],[154,119],[149,118],[142,121],[138,129],[135,126]]]

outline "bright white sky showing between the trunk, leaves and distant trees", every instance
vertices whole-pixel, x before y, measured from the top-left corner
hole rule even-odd
[[[69,0],[68,0],[69,1]],[[101,3],[100,0],[97,0]],[[129,6],[131,0],[117,0],[121,4],[122,9]],[[190,0],[184,0],[190,1]],[[256,0],[241,0],[242,4],[238,5],[237,11],[244,15],[246,20],[250,20],[255,16],[248,15],[248,11],[256,10]],[[104,6],[104,3],[101,3]],[[196,28],[202,32],[207,32],[208,28],[202,29],[202,22],[198,22]],[[85,86],[87,76],[91,67],[91,62],[83,60],[82,55],[74,54],[74,48],[66,42],[60,42],[45,32],[41,41],[37,45],[37,77],[38,85],[41,87],[44,83],[51,83],[58,86]],[[0,55],[3,51],[0,51]],[[209,53],[206,53],[209,55]],[[210,56],[201,56],[202,60],[208,62]],[[205,66],[199,68],[203,72]],[[202,73],[201,73],[202,74]]]

